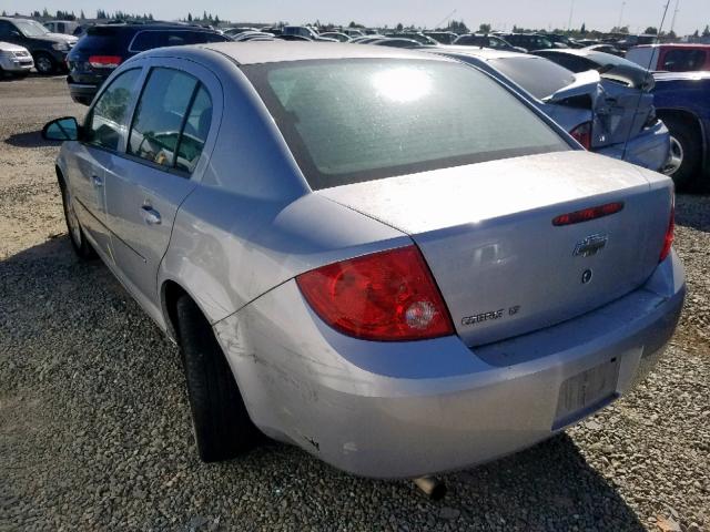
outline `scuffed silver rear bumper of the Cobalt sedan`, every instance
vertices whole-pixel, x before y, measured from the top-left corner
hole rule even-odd
[[[672,336],[684,298],[674,253],[648,283],[564,324],[480,348],[457,337],[369,342],[313,315],[292,280],[215,331],[253,421],[345,471],[407,478],[549,438],[629,390]],[[560,418],[560,387],[616,359],[612,391]]]

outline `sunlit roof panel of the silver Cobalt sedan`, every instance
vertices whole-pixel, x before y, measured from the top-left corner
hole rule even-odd
[[[183,47],[178,47],[183,48]],[[187,48],[212,50],[226,55],[239,64],[276,63],[285,61],[306,61],[318,59],[424,59],[436,60],[436,55],[387,47],[369,44],[353,45],[345,42],[297,42],[297,41],[260,41],[260,42],[211,42]],[[172,49],[174,53],[174,48]],[[151,54],[171,53],[171,49],[155,49]],[[439,60],[445,61],[444,58]]]

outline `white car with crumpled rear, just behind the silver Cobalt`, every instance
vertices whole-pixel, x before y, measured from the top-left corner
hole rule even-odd
[[[668,161],[670,139],[656,117],[652,83],[630,86],[606,81],[594,71],[576,74],[524,53],[464,47],[434,52],[478,66],[514,86],[587,150],[655,171]]]

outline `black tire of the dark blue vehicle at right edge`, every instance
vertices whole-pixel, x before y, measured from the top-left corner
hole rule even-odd
[[[697,129],[680,116],[665,116],[663,122],[670,132],[671,149],[680,149],[682,157],[674,172],[665,173],[673,180],[678,192],[701,190],[702,144]]]

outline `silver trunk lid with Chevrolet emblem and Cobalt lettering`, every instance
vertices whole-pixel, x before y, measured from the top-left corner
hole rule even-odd
[[[318,191],[410,235],[459,337],[481,345],[574,318],[639,287],[658,265],[672,187],[659,174],[574,151]],[[552,218],[623,202],[606,217]],[[598,253],[575,254],[591,244]],[[591,278],[582,282],[591,272]]]

